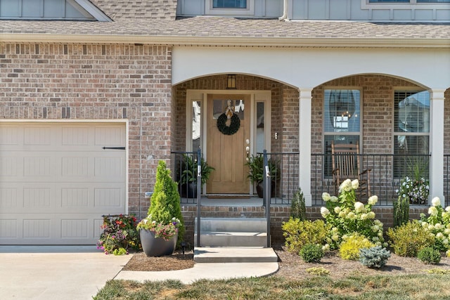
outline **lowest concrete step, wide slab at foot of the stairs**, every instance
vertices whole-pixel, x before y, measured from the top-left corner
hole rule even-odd
[[[262,247],[197,247],[195,263],[276,263],[272,248]]]

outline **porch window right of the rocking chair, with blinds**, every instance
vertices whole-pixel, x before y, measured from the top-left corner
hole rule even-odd
[[[425,170],[421,176],[428,178],[429,141],[430,93],[395,91],[394,178],[412,176],[414,165],[421,165]]]

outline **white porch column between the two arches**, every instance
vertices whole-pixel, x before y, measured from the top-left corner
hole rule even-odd
[[[311,88],[300,88],[299,98],[299,186],[302,188],[304,203],[312,206],[311,196]]]

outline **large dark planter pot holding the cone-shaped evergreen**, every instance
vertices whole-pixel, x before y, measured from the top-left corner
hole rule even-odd
[[[146,229],[141,229],[139,235],[141,237],[142,249],[146,256],[164,256],[174,253],[178,233],[171,240],[155,237],[153,231]]]

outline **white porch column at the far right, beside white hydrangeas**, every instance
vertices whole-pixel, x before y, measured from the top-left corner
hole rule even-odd
[[[443,207],[445,204],[444,91],[445,89],[430,90],[430,200],[439,197]]]

